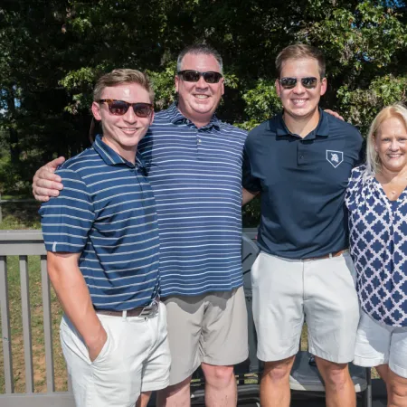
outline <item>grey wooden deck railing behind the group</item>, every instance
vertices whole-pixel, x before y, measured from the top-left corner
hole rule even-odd
[[[251,239],[254,239],[254,229],[244,230]],[[24,352],[25,393],[15,393],[12,336],[10,329],[10,302],[8,287],[7,256],[18,256],[20,274],[21,312],[23,326],[24,348],[17,352]],[[43,305],[43,336],[45,353],[46,393],[35,393],[34,364],[33,364],[33,337],[32,337],[32,307],[30,307],[30,274],[28,256],[40,257],[41,292]],[[69,377],[68,392],[55,390],[54,357],[52,348],[52,299],[50,281],[47,274],[46,251],[41,231],[0,231],[0,310],[3,340],[3,372],[5,393],[0,393],[1,407],[74,407]],[[14,349],[15,351],[15,349]],[[1,382],[1,380],[0,380]],[[21,391],[21,390],[20,390]],[[1,392],[1,390],[0,390]]]

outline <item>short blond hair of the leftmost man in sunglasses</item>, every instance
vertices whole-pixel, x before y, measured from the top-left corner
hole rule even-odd
[[[93,90],[93,100],[98,101],[102,91],[105,88],[118,86],[123,83],[137,83],[142,88],[147,90],[151,103],[154,102],[154,90],[151,87],[151,83],[147,75],[137,70],[128,69],[113,70],[101,76],[96,82],[95,89]]]

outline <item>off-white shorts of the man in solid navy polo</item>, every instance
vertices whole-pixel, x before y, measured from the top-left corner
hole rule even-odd
[[[304,321],[308,350],[330,362],[354,359],[359,305],[348,252],[321,260],[289,260],[260,252],[251,268],[258,358],[296,355]]]

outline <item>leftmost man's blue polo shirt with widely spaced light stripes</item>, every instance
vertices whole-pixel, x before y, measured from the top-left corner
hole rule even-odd
[[[129,163],[98,136],[57,170],[64,187],[40,209],[47,251],[81,253],[96,309],[144,306],[159,288],[156,204],[140,158]]]

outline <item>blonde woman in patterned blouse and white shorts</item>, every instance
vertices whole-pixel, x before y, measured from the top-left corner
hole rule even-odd
[[[407,406],[407,109],[374,118],[367,160],[352,172],[345,204],[362,308],[355,364],[376,366],[388,406]]]

